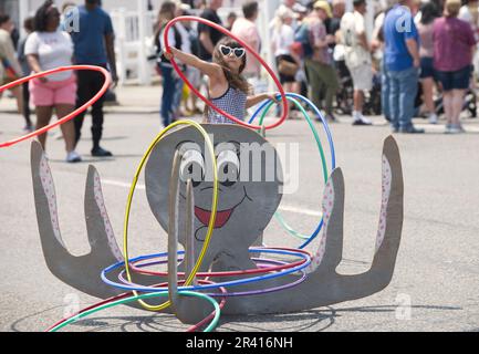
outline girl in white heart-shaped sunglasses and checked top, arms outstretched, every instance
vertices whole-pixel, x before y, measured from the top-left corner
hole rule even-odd
[[[232,39],[223,38],[218,42],[212,54],[212,63],[175,48],[170,50],[171,53],[165,53],[166,59],[176,58],[207,75],[211,103],[238,119],[243,121],[247,108],[264,100],[278,102],[274,93],[251,94],[251,86],[241,76],[246,66],[246,49]],[[209,107],[206,108],[205,116],[206,123],[235,123]]]

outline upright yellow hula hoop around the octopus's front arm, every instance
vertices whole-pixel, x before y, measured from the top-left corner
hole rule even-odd
[[[125,212],[125,220],[123,223],[123,253],[125,254],[125,271],[126,271],[126,277],[128,279],[129,282],[132,282],[132,274],[129,272],[129,257],[128,257],[128,222],[129,222],[129,211],[132,208],[132,200],[133,200],[133,195],[135,192],[135,188],[136,188],[136,184],[138,181],[138,177],[139,174],[143,170],[143,166],[145,165],[146,159],[148,158],[148,156],[152,154],[153,148],[156,146],[156,144],[158,144],[158,142],[165,136],[165,134],[167,132],[169,132],[170,129],[173,129],[174,127],[178,126],[178,125],[187,125],[187,126],[192,126],[195,127],[197,131],[199,131],[199,133],[201,133],[202,137],[205,138],[205,142],[207,144],[208,147],[208,153],[211,156],[211,160],[212,160],[212,169],[214,169],[214,189],[212,189],[212,208],[211,208],[211,216],[209,218],[209,222],[208,222],[208,232],[206,235],[205,238],[205,244],[202,246],[201,252],[198,257],[198,261],[196,262],[195,267],[192,268],[191,273],[189,274],[188,279],[185,282],[185,285],[188,287],[191,284],[196,273],[198,272],[199,268],[201,267],[202,260],[205,258],[205,253],[208,250],[209,247],[209,242],[211,239],[211,235],[212,231],[215,229],[215,220],[216,220],[216,212],[217,212],[217,207],[218,207],[218,171],[217,171],[217,162],[216,162],[216,157],[215,157],[215,148],[212,146],[212,143],[208,136],[208,134],[206,133],[205,128],[199,125],[196,122],[192,121],[178,121],[175,122],[170,125],[168,125],[166,128],[164,128],[157,136],[156,138],[153,140],[153,143],[149,145],[148,149],[146,150],[145,155],[143,155],[142,160],[139,163],[138,168],[136,169],[135,176],[133,177],[133,183],[132,183],[132,187],[129,188],[129,194],[128,194],[128,199],[126,201],[126,212]],[[133,291],[135,295],[137,295],[136,291]],[[160,305],[150,305],[147,304],[146,302],[144,302],[143,300],[138,300],[138,302],[142,304],[142,306],[146,310],[149,311],[160,311],[160,310],[165,310],[167,309],[171,302],[168,300],[167,302],[160,304]]]

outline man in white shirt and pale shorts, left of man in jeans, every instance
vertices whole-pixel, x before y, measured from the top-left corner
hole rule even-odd
[[[346,66],[354,85],[353,125],[371,125],[363,116],[364,91],[371,91],[373,86],[373,64],[364,21],[366,0],[354,0],[353,4],[354,12],[347,12],[341,20]]]

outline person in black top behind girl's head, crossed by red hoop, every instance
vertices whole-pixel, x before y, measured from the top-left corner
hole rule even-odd
[[[208,6],[202,11],[201,18],[211,22],[222,25],[221,19],[216,12],[222,6],[222,0],[208,0]],[[221,32],[212,29],[207,24],[198,24],[199,34],[199,58],[205,61],[211,61],[211,53],[215,50],[215,45],[223,37]]]

